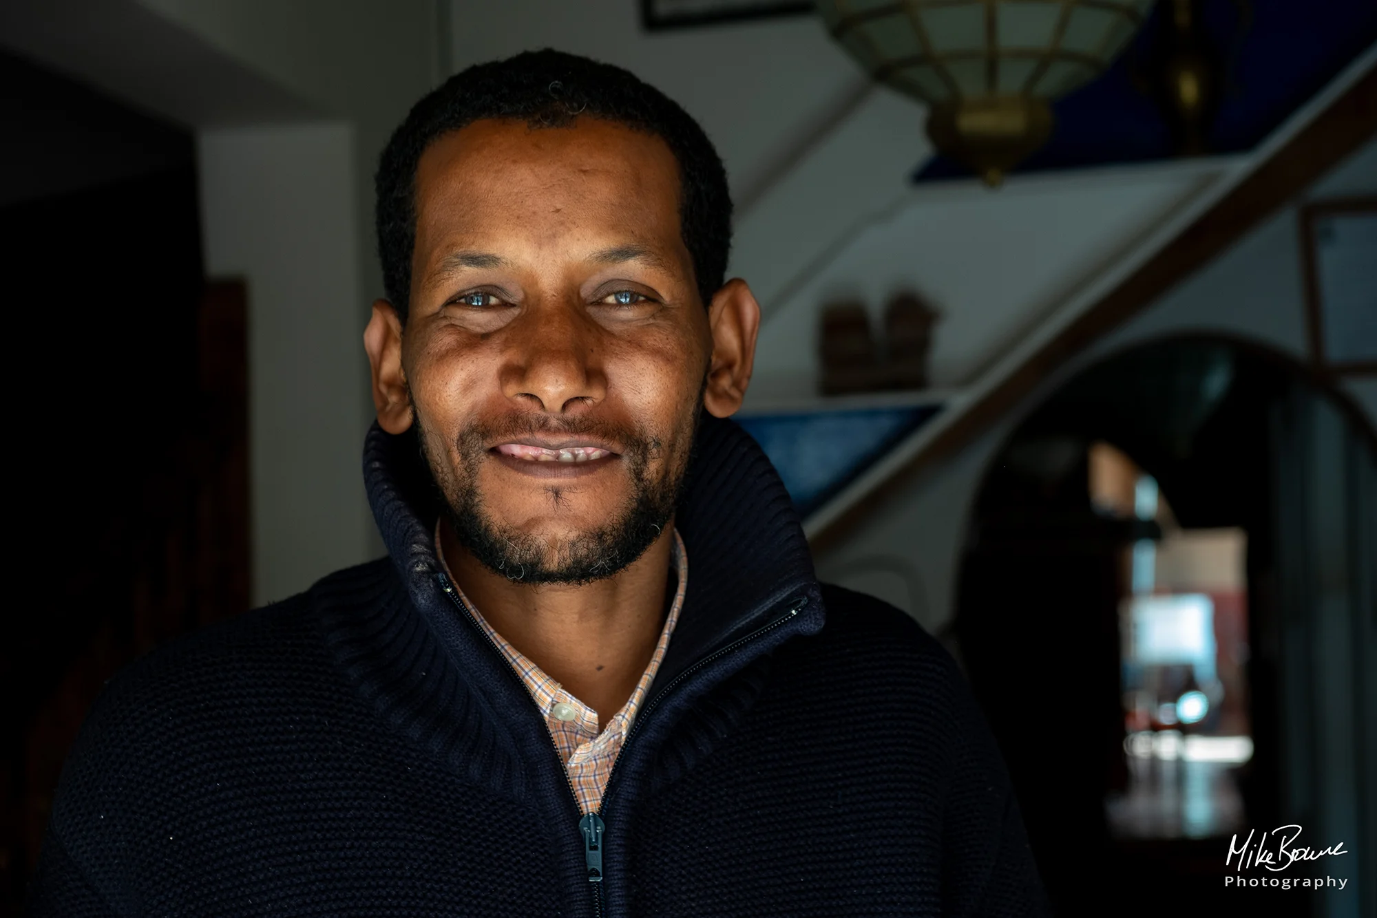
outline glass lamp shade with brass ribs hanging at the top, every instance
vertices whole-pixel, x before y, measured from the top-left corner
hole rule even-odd
[[[818,0],[876,80],[929,107],[936,147],[997,184],[1052,134],[1048,102],[1097,76],[1153,0]]]

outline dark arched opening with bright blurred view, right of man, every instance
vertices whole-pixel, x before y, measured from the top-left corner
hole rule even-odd
[[[1059,914],[1348,914],[1329,892],[1230,888],[1226,855],[1287,822],[1316,845],[1373,841],[1370,779],[1349,772],[1377,716],[1374,457],[1323,380],[1210,337],[1106,359],[1004,445],[954,633]],[[1347,559],[1330,606],[1314,533]],[[1352,738],[1333,754],[1314,751],[1325,698],[1348,699],[1323,728]],[[1316,793],[1340,784],[1343,802]],[[1340,867],[1366,907],[1371,864]]]

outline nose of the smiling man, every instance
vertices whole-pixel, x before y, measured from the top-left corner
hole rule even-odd
[[[607,395],[599,326],[570,299],[530,304],[508,329],[503,394],[552,414],[581,413]]]

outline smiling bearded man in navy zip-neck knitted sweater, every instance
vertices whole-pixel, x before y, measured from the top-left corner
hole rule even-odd
[[[91,712],[41,915],[1016,915],[1037,875],[952,661],[819,586],[730,421],[759,307],[701,128],[552,51],[377,173],[365,478],[390,557]]]

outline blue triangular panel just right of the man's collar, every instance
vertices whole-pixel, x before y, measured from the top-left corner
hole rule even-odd
[[[938,413],[936,405],[756,414],[737,418],[808,515]]]

